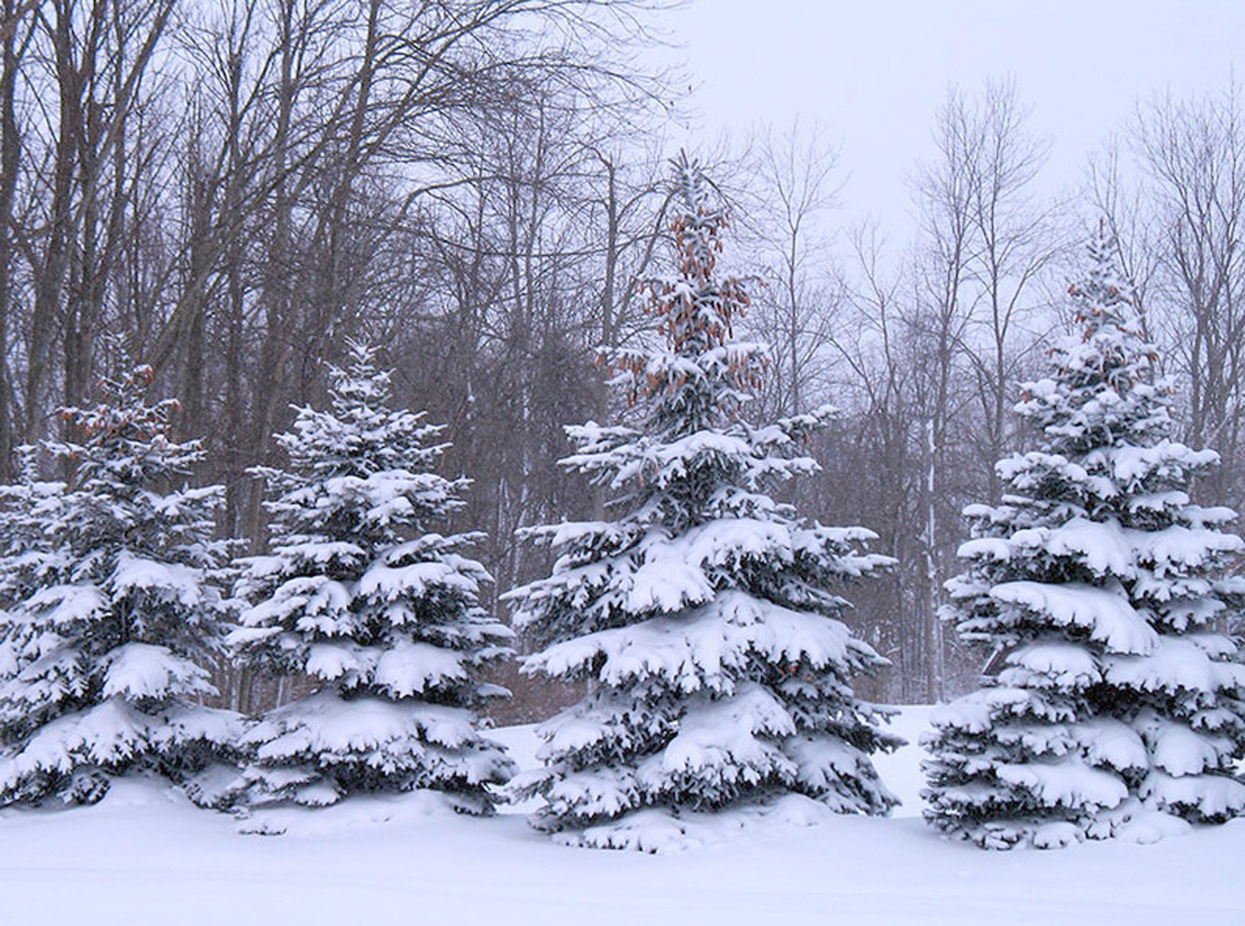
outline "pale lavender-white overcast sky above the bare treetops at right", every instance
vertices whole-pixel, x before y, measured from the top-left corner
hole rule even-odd
[[[698,81],[693,144],[820,123],[842,143],[840,215],[893,229],[949,85],[1016,81],[1055,192],[1138,98],[1245,80],[1245,0],[695,0],[670,25]]]

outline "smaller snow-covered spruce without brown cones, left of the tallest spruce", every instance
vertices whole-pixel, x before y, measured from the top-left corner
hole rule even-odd
[[[512,763],[474,709],[504,688],[477,670],[509,655],[510,631],[479,606],[478,534],[432,528],[462,505],[466,479],[432,472],[442,427],[387,407],[390,373],[352,345],[330,371],[331,408],[299,408],[276,437],[289,469],[263,468],[276,498],[271,551],[243,563],[248,606],[230,637],[242,658],[305,673],[316,690],[270,711],[244,738],[254,805],[332,804],[352,793],[431,788],[468,813]]]

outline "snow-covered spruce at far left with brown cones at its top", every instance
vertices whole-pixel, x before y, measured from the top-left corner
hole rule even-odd
[[[32,508],[6,561],[0,803],[90,803],[131,770],[219,797],[240,723],[198,702],[223,638],[222,489],[184,487],[203,451],[169,438],[177,403],[146,403],[152,377],[136,367],[61,412],[80,441],[49,444],[72,467],[62,498],[29,467],[17,492]]]

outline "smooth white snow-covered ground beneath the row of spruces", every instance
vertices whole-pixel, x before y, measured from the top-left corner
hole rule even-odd
[[[926,711],[896,721],[915,741]],[[497,731],[520,764],[530,728]],[[674,855],[566,849],[522,816],[427,795],[239,835],[151,783],[92,808],[0,814],[0,924],[1245,924],[1245,820],[1155,845],[985,853],[919,819],[919,751],[878,765],[890,819],[767,819]]]

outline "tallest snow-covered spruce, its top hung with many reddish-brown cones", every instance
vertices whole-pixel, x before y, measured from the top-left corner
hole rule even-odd
[[[586,681],[540,727],[544,769],[517,797],[566,843],[660,851],[690,811],[756,809],[807,795],[837,811],[895,799],[869,759],[898,744],[849,678],[885,661],[853,637],[833,589],[889,565],[863,528],[827,528],[769,489],[817,464],[794,451],[832,409],[752,427],[738,417],[764,348],[732,340],[748,302],[715,264],[726,225],[710,185],[675,166],[679,275],[650,285],[667,342],[608,357],[642,424],[568,433],[563,465],[615,493],[609,521],[525,531],[558,554],[552,575],[509,592],[543,652],[529,673]]]

